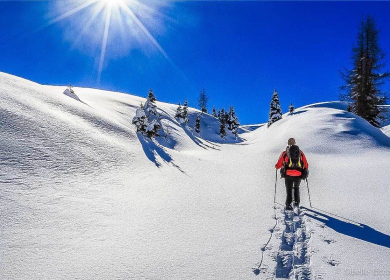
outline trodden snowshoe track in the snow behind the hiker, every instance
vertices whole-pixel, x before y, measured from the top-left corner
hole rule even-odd
[[[275,277],[278,279],[310,280],[310,239],[306,231],[304,210],[282,210],[280,249],[276,253]]]

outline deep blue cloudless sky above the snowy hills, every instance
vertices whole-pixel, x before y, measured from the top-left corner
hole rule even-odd
[[[82,36],[92,6],[48,24],[82,2],[0,1],[0,71],[141,96],[151,87],[159,100],[191,106],[205,87],[209,109],[232,104],[241,123],[263,122],[274,88],[283,111],[338,98],[339,70],[368,13],[390,69],[389,1],[143,2],[130,8],[163,52],[123,12],[128,25],[112,16],[98,80],[106,11]]]

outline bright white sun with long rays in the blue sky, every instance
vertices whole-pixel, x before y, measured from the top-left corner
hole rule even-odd
[[[152,18],[152,21],[148,20],[148,23],[153,22],[155,24],[157,22],[157,17],[162,14],[151,6],[153,3],[156,4],[157,2],[140,2],[138,0],[82,0],[66,2],[66,5],[61,8],[61,13],[49,20],[43,27],[74,15],[78,18],[76,22],[80,22],[77,28],[80,30],[78,31],[78,35],[74,38],[75,43],[79,42],[82,39],[82,36],[88,35],[89,37],[96,37],[98,33],[102,33],[102,35],[100,35],[100,56],[96,78],[97,85],[99,85],[101,72],[103,70],[108,38],[114,37],[115,40],[118,39],[118,34],[114,34],[115,32],[119,33],[119,35],[130,33],[135,41],[138,42],[142,40],[147,40],[149,43],[151,42],[158,51],[173,64],[167,53],[141,21],[141,19],[147,20]],[[83,20],[79,20],[80,16]],[[102,27],[99,28],[99,30],[93,29],[93,27],[96,26]],[[109,36],[110,33],[112,33],[112,36]],[[88,43],[91,42],[88,41]],[[134,42],[115,41],[115,43],[128,45]]]

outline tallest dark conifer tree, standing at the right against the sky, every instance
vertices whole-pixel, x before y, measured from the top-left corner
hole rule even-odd
[[[341,95],[341,100],[351,101],[351,112],[379,127],[386,119],[384,108],[380,105],[385,104],[387,100],[381,86],[390,73],[382,71],[385,66],[384,52],[379,46],[376,23],[370,16],[360,22],[351,58],[352,69],[345,69],[341,73],[345,82],[341,86],[345,92]]]

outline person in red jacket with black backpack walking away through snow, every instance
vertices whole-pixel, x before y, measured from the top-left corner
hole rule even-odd
[[[286,189],[285,209],[292,210],[292,194],[294,197],[294,207],[299,206],[299,184],[300,181],[307,178],[308,163],[303,151],[295,144],[294,138],[289,138],[288,146],[280,154],[276,169],[280,169],[281,177],[284,178]]]

